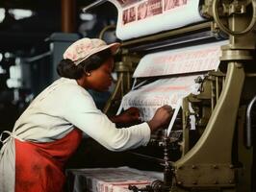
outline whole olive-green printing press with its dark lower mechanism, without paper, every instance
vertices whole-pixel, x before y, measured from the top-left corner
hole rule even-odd
[[[164,179],[143,188],[130,185],[130,190],[256,190],[256,1],[204,0],[200,1],[200,13],[206,21],[121,43],[115,62],[115,90],[104,108],[107,114],[115,114],[125,95],[136,91],[135,87],[140,89],[140,84],[191,75],[198,76],[194,83],[199,84],[197,93],[182,97],[180,109],[175,108],[171,130],[153,134],[146,153],[131,152],[144,162],[160,165]],[[217,70],[152,76],[149,73],[133,78],[141,58],[148,54],[216,42],[226,42],[219,45]]]

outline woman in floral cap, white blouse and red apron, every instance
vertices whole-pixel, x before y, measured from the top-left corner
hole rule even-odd
[[[113,55],[119,43],[82,38],[64,52],[58,65],[63,78],[45,88],[15,122],[3,141],[0,191],[62,191],[64,163],[77,149],[82,132],[112,151],[146,145],[150,132],[165,125],[170,107],[159,108],[147,123],[116,129],[117,122],[139,119],[130,108],[112,121],[95,107],[87,91],[105,91],[112,83]]]

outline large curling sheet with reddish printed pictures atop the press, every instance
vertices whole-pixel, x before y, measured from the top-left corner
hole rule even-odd
[[[109,0],[118,11],[116,36],[146,36],[204,20],[199,0]]]

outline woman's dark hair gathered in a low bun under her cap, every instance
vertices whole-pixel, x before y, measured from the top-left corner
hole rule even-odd
[[[91,55],[87,60],[83,60],[78,65],[72,60],[61,60],[57,66],[57,73],[64,78],[79,79],[86,71],[99,68],[106,60],[112,58],[110,49],[105,49],[96,54]]]

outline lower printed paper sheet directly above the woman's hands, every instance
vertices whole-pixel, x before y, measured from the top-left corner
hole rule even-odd
[[[178,101],[190,93],[198,94],[200,84],[194,80],[199,75],[184,76],[171,79],[161,79],[152,84],[146,84],[136,90],[131,90],[122,99],[121,108],[139,108],[141,120],[150,120],[157,108],[169,105],[177,108]],[[203,76],[200,75],[203,79]]]

